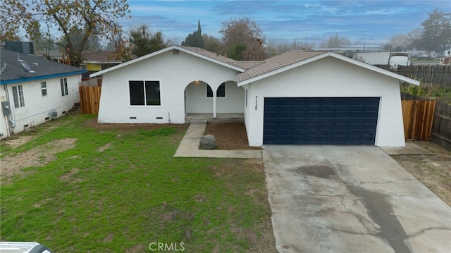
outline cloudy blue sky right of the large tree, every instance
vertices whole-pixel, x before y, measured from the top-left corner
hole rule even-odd
[[[182,42],[197,30],[220,38],[221,23],[246,16],[257,22],[266,42],[307,43],[338,33],[351,42],[383,44],[398,34],[421,27],[434,8],[451,13],[451,1],[138,1],[128,0],[129,18],[119,22],[125,30],[145,23],[166,39]]]

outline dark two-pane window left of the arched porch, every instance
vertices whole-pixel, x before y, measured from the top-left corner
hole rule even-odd
[[[130,105],[161,106],[159,81],[128,81]]]

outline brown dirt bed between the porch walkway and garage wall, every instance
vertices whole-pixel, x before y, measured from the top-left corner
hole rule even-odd
[[[245,123],[208,123],[205,135],[213,135],[217,149],[225,150],[259,150],[260,147],[249,147]]]

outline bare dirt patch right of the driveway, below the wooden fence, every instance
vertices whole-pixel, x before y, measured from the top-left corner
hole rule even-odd
[[[392,156],[409,173],[451,206],[451,150],[435,142],[414,142],[432,155]]]

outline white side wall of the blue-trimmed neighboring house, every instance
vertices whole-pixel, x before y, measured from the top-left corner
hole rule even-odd
[[[78,83],[81,80],[81,75],[69,75],[63,78],[67,78],[68,82],[68,96],[65,97],[61,95],[60,79],[62,78],[49,78],[1,85],[1,101],[6,101],[7,99],[4,87],[7,87],[8,90],[8,97],[12,109],[12,115],[10,117],[16,123],[16,128],[12,129],[13,132],[22,132],[25,128],[50,120],[53,118],[52,111],[56,111],[59,117],[63,115],[63,112],[72,109],[73,105],[79,101]],[[42,96],[41,82],[46,82],[47,84],[47,96]],[[14,107],[13,87],[17,85],[22,85],[25,101],[25,106],[20,108]],[[0,117],[0,132],[3,134],[3,137],[6,137],[7,125],[3,111],[1,111]]]

